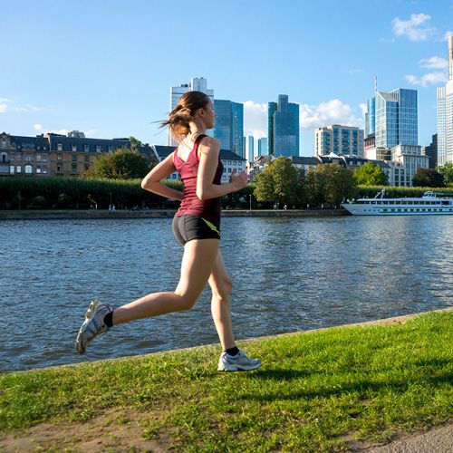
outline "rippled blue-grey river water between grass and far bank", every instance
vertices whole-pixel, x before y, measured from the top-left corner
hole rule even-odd
[[[453,304],[453,218],[226,217],[237,339],[359,323]],[[210,292],[194,309],[120,325],[79,356],[93,298],[174,289],[170,218],[0,222],[0,371],[217,342]]]

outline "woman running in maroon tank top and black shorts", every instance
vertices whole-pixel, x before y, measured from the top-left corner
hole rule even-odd
[[[223,165],[219,157],[220,143],[205,132],[214,127],[216,113],[210,98],[203,92],[183,94],[169,113],[168,126],[179,140],[178,148],[160,162],[141,181],[141,187],[175,198],[181,205],[173,219],[173,233],[184,246],[179,283],[173,293],[153,293],[113,309],[92,301],[77,335],[77,351],[86,351],[87,344],[113,325],[129,323],[160,314],[189,310],[208,283],[212,290],[211,311],[223,352],[218,371],[255,370],[258,359],[247,357],[237,348],[231,325],[229,296],[231,280],[219,250],[220,198],[247,184],[246,172],[233,170],[227,184],[221,184]],[[168,188],[162,182],[178,171],[183,192]]]

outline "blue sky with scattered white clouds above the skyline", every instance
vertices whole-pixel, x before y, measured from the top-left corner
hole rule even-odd
[[[171,86],[207,79],[243,102],[245,135],[267,136],[267,102],[301,105],[301,155],[314,129],[364,128],[374,92],[418,91],[419,145],[448,79],[453,0],[0,0],[0,132],[82,130],[167,144]]]

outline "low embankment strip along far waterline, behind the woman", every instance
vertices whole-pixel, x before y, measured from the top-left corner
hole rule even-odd
[[[130,210],[0,210],[0,220],[45,220],[71,218],[159,218],[173,217],[175,209]],[[346,209],[223,209],[222,217],[339,217],[350,216]]]

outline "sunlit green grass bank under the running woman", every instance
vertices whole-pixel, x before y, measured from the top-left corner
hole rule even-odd
[[[0,376],[0,429],[140,413],[143,437],[190,451],[338,450],[452,417],[453,313],[242,344],[260,370],[218,373],[218,348]],[[111,339],[114,341],[114,338]],[[120,423],[120,421],[119,421]]]

